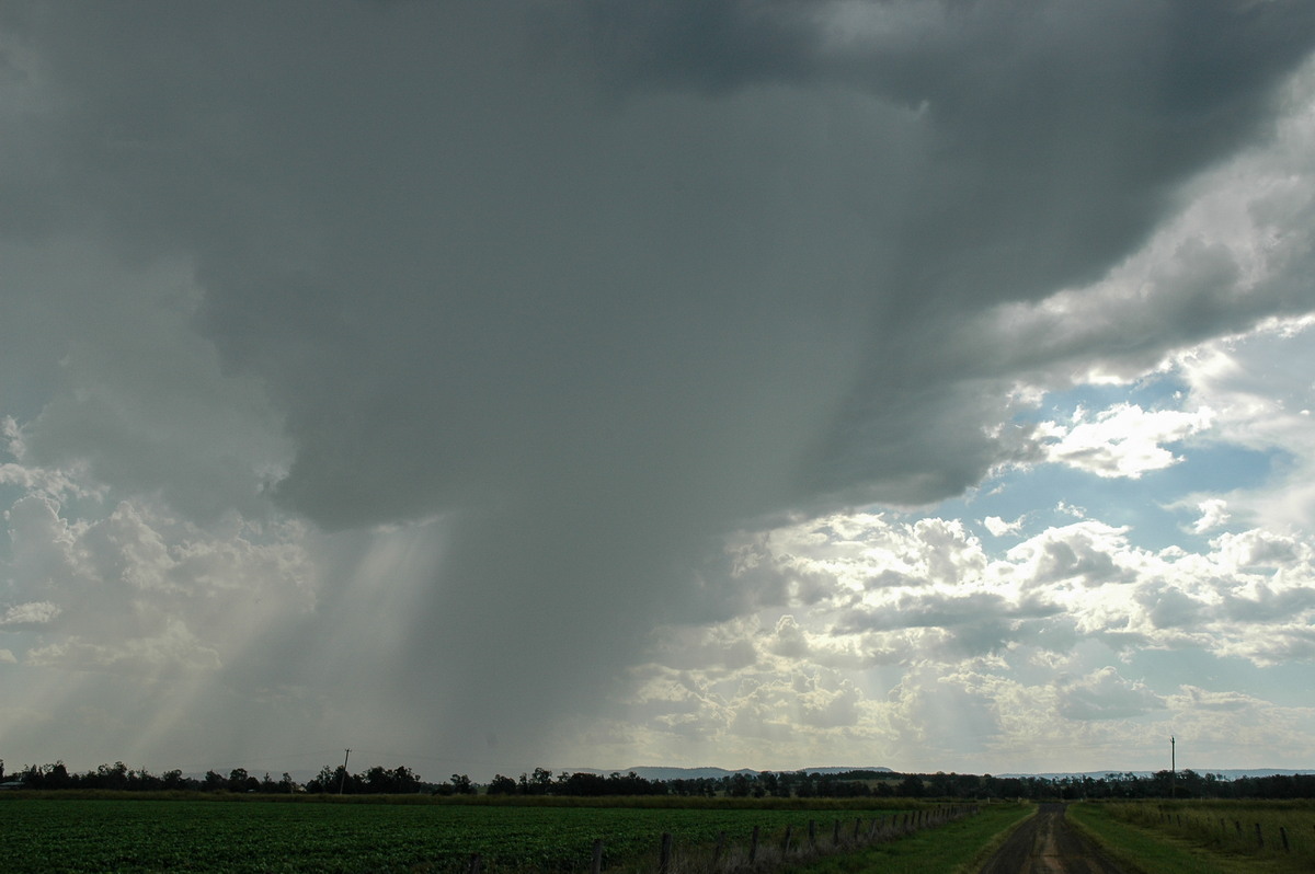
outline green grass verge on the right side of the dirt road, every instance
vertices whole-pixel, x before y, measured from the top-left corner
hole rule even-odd
[[[1132,871],[1153,874],[1301,874],[1304,862],[1227,856],[1153,829],[1123,823],[1095,803],[1070,804],[1068,819]]]

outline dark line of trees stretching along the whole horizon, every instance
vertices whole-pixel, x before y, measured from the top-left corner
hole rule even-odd
[[[635,771],[596,774],[535,768],[518,778],[496,775],[476,783],[466,774],[433,783],[405,765],[375,765],[352,774],[343,765],[325,765],[305,785],[291,774],[274,779],[256,777],[243,768],[226,775],[214,770],[191,777],[181,770],[151,774],[124,762],[100,765],[85,773],[70,771],[63,761],[29,765],[5,778],[0,760],[0,783],[21,789],[83,789],[112,791],[200,793],[320,793],[343,795],[416,794],[434,795],[679,795],[704,798],[927,798],[927,799],[1134,799],[1134,798],[1315,798],[1315,774],[1272,774],[1226,779],[1220,774],[1193,770],[1155,774],[1109,773],[1103,777],[993,777],[990,774],[898,774],[894,771],[739,771],[725,777],[648,779]]]

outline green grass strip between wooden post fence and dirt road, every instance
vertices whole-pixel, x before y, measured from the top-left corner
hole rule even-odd
[[[877,844],[853,853],[842,853],[807,863],[786,863],[782,874],[963,874],[998,849],[1035,804],[984,804],[976,816],[940,828],[915,832],[899,840]]]

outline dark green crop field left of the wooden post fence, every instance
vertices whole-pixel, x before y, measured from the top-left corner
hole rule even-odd
[[[905,808],[907,811],[907,808]],[[447,871],[479,853],[485,871],[588,870],[593,842],[605,866],[656,850],[671,832],[680,848],[725,831],[747,844],[810,819],[831,836],[894,810],[548,807],[444,803],[289,803],[5,798],[4,858],[12,874],[51,871]]]

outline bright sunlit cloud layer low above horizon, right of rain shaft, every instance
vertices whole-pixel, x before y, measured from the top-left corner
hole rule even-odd
[[[1173,731],[1198,761],[1236,756],[1227,724],[1265,737],[1272,756],[1308,754],[1307,707],[1137,677],[1134,662],[1184,652],[1205,674],[1308,661],[1310,545],[1248,531],[1155,553],[1126,535],[1081,520],[993,559],[935,518],[746,532],[730,545],[732,577],[756,610],[659,632],[625,718],[644,729],[626,743],[658,757],[781,744],[777,768],[881,749],[922,768],[1094,769]]]

